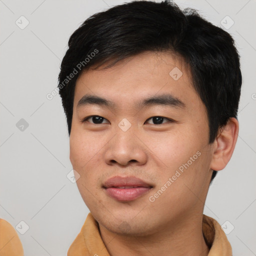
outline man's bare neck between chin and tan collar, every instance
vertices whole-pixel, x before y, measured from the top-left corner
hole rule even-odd
[[[209,248],[202,235],[202,215],[173,222],[143,236],[116,234],[100,224],[99,229],[111,256],[208,255]]]

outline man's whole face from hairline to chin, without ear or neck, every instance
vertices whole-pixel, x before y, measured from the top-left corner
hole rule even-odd
[[[107,230],[145,235],[200,214],[211,177],[208,138],[206,108],[170,53],[144,52],[76,81],[70,161],[85,204]]]

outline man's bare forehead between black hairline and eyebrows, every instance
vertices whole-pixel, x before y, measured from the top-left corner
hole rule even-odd
[[[182,59],[167,52],[143,52],[118,61],[112,67],[88,69],[76,81],[74,106],[85,94],[138,104],[141,98],[171,93],[173,97],[198,98],[189,69]]]

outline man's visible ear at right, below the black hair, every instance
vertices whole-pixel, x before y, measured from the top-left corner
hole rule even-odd
[[[237,140],[239,124],[236,118],[230,117],[227,124],[219,129],[213,142],[213,155],[210,168],[222,170],[230,160]]]

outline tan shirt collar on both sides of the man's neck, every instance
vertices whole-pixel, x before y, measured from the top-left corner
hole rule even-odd
[[[203,214],[202,233],[210,248],[208,256],[232,256],[232,248],[219,223]],[[98,223],[91,213],[68,249],[67,256],[110,256],[98,229]]]

